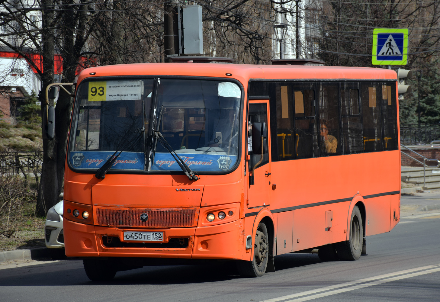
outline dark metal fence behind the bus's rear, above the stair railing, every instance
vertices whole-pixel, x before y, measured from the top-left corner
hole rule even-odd
[[[440,124],[400,125],[400,144],[429,145],[433,140],[440,140]]]

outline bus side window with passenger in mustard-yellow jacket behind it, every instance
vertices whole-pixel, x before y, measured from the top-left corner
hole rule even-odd
[[[319,147],[323,156],[341,154],[339,85],[322,83],[319,97]]]

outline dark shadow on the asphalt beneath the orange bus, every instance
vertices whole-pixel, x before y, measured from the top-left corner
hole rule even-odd
[[[281,271],[320,262],[317,255],[285,254],[275,257],[275,269]],[[81,260],[2,269],[0,272],[0,287],[192,284],[242,278],[238,275],[233,262],[213,262],[209,265],[145,266],[141,269],[118,272],[113,280],[105,283],[88,280]]]

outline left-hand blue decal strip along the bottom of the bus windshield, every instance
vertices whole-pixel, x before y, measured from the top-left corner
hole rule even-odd
[[[70,163],[77,169],[99,169],[114,151],[70,151]],[[119,153],[119,152],[118,152]],[[143,152],[122,152],[111,169],[143,170]]]

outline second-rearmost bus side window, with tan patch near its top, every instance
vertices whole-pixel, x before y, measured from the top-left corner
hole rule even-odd
[[[364,152],[383,151],[380,83],[361,83],[361,99]]]

